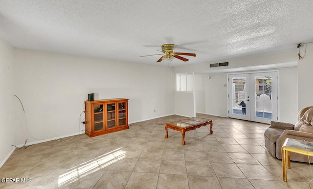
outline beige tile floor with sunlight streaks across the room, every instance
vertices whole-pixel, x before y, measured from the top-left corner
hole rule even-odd
[[[67,142],[49,141],[16,149],[0,168],[0,178],[31,178],[31,183],[0,183],[8,189],[309,189],[310,165],[291,162],[288,182],[281,160],[264,147],[267,124],[205,114],[204,126],[181,134],[166,116],[131,124],[129,130]],[[64,140],[66,140],[65,138]],[[313,184],[311,184],[313,187]]]

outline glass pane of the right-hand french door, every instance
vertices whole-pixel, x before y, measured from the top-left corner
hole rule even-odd
[[[272,76],[255,76],[255,116],[272,118]]]

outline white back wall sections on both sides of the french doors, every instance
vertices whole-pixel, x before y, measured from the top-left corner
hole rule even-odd
[[[298,113],[297,67],[276,70],[279,71],[279,118],[282,122],[294,124]],[[211,73],[210,76],[211,79],[207,74],[196,77],[196,112],[227,117],[227,74]]]

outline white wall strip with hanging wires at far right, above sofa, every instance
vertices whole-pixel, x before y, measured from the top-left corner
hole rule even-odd
[[[300,48],[304,56],[305,44]],[[298,60],[298,109],[313,106],[313,43],[307,45],[306,55]]]

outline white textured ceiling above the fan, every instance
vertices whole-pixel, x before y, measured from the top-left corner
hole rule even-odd
[[[156,63],[164,43],[196,53],[173,66],[296,49],[313,41],[313,0],[0,0],[17,48]]]

